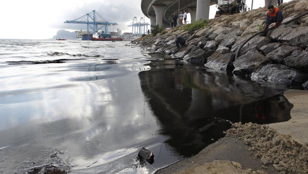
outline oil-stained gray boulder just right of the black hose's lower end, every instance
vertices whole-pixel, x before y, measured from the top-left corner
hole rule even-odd
[[[238,57],[234,62],[233,74],[236,76],[250,75],[262,66],[271,63],[271,60],[260,54],[258,51],[248,52]]]

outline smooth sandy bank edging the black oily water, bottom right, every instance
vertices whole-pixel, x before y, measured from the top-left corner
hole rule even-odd
[[[307,145],[305,144],[308,143],[308,91],[289,90],[286,91],[284,95],[292,104],[294,104],[294,108],[291,111],[292,119],[288,122],[268,125],[268,127],[272,129],[267,126],[259,126],[255,124],[238,125],[236,126],[236,129],[228,132],[228,136],[206,147],[196,156],[161,169],[157,171],[156,174],[292,173],[286,171],[286,169],[280,172],[276,169],[280,169],[282,165],[285,165],[284,163],[281,163],[285,158],[287,158],[284,157],[284,153],[289,153],[290,151],[290,153],[297,152],[303,155],[304,150],[305,158],[307,156],[308,151]],[[253,131],[249,129],[266,130],[263,131],[266,133],[251,136]],[[243,133],[244,131],[246,135]],[[264,140],[260,140],[262,137],[269,139],[268,142],[264,143]],[[247,141],[249,141],[249,143],[247,143]],[[296,142],[296,145],[294,145],[294,142]],[[286,143],[290,143],[291,147],[286,147]],[[266,154],[267,152],[271,152],[271,154],[268,155]],[[295,158],[296,160],[298,155],[299,154],[295,153],[293,157],[291,156],[290,159],[287,159],[286,161],[292,161],[292,158]],[[277,159],[278,157],[280,157],[279,160]],[[269,160],[268,164],[265,163],[267,160]],[[290,164],[292,165],[292,163]],[[276,169],[274,168],[274,165]],[[290,168],[290,166],[286,167]],[[298,167],[294,168],[297,169]],[[304,170],[303,172],[302,170],[297,173],[306,174],[308,171]]]

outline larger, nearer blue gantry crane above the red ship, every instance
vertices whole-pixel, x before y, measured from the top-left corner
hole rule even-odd
[[[108,26],[110,25],[118,25],[115,22],[109,22],[106,19],[104,19],[96,10],[93,10],[90,13],[87,13],[81,17],[78,17],[74,20],[66,20],[64,23],[78,23],[78,24],[87,24],[87,32],[88,34],[89,29],[92,29],[93,33],[98,32],[102,28],[104,28],[104,33],[108,33]]]

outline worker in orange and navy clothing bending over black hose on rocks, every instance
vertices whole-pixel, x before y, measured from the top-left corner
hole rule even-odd
[[[266,31],[271,23],[276,23],[274,26],[271,27],[271,29],[277,28],[283,20],[284,17],[278,7],[274,7],[273,5],[268,6],[268,11],[266,13],[266,22],[264,24],[263,31]],[[266,32],[263,32],[261,35],[265,36]]]

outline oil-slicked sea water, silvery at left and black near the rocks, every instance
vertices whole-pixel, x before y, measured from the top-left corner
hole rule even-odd
[[[151,174],[230,122],[289,120],[282,91],[129,42],[0,40],[0,173]]]

